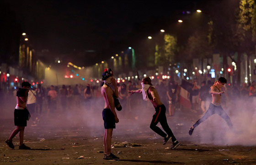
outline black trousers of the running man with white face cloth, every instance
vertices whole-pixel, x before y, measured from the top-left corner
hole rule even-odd
[[[155,108],[155,114],[153,115],[151,124],[150,124],[150,128],[155,131],[155,133],[159,134],[162,137],[166,137],[166,135],[168,134],[169,136],[171,136],[171,140],[174,142],[176,141],[176,138],[174,136],[174,134],[171,131],[171,128],[169,128],[168,123],[167,123],[167,119],[165,116],[165,112],[166,112],[166,108],[165,105],[161,105],[161,106],[157,106]],[[157,123],[160,122],[162,128],[165,130],[164,133],[159,127],[157,127]]]

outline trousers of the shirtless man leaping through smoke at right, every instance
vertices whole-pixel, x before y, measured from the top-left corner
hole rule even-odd
[[[222,109],[221,106],[215,106],[213,103],[210,104],[208,110],[205,112],[203,117],[201,117],[197,122],[193,125],[193,127],[197,127],[201,122],[204,122],[208,117],[212,116],[213,114],[218,114],[220,117],[222,117],[228,124],[229,128],[233,128],[232,122],[227,115],[227,113]]]

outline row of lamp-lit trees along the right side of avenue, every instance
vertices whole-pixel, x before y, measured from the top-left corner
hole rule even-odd
[[[237,66],[237,82],[240,82],[242,55],[247,57],[256,51],[256,2],[255,0],[210,1],[202,13],[186,16],[181,25],[172,24],[165,33],[156,34],[152,40],[139,45],[137,68],[147,59],[147,67],[192,63],[192,59],[212,58],[213,53],[227,57]],[[155,38],[155,40],[154,40]],[[237,58],[234,54],[238,53]],[[226,69],[224,69],[226,70]],[[249,77],[249,76],[248,76]]]

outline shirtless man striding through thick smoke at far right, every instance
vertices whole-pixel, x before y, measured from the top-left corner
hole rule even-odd
[[[227,80],[224,77],[220,77],[218,81],[211,86],[211,94],[212,94],[212,103],[210,104],[208,110],[205,112],[203,117],[201,117],[197,122],[195,122],[189,129],[189,135],[192,135],[194,129],[201,123],[204,122],[208,117],[212,116],[213,114],[217,113],[220,117],[222,117],[228,124],[229,128],[233,128],[232,122],[227,115],[226,112],[221,107],[221,94],[224,91],[221,91],[221,88],[227,84]]]

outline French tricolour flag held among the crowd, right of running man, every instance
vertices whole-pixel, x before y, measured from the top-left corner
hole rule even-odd
[[[180,105],[186,109],[191,109],[190,92],[192,88],[193,84],[186,80],[181,80]]]

